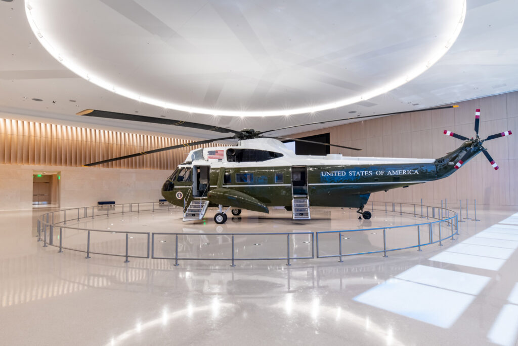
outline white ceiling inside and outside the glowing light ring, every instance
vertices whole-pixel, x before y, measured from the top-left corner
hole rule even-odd
[[[426,61],[448,40],[458,18],[452,13],[461,3],[31,1],[41,32],[75,66],[139,95],[215,112],[308,107],[383,86]],[[453,46],[406,84],[314,114],[240,118],[164,109],[100,88],[40,45],[23,1],[0,1],[0,116],[210,138],[221,134],[75,113],[87,108],[138,112],[267,130],[449,104],[518,90],[517,14],[515,0],[468,0]],[[318,126],[291,132],[313,128]]]

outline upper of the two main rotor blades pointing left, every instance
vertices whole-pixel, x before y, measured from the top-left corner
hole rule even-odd
[[[155,118],[155,117],[127,114],[127,113],[107,112],[106,110],[85,109],[82,112],[77,113],[77,115],[87,116],[87,117],[106,118],[106,119],[141,121],[141,122],[172,125],[172,126],[182,126],[182,127],[193,128],[193,129],[220,132],[220,133],[231,132],[231,133],[235,133],[235,134],[241,134],[240,131],[235,131],[235,130],[231,130],[231,129],[221,128],[218,126],[212,126],[212,125],[202,124],[202,123],[197,123],[197,122],[173,120],[173,119],[167,119],[167,118]]]

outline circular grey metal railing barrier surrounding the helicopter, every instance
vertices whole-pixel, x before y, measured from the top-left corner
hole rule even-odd
[[[383,253],[386,257],[387,252],[413,247],[421,251],[422,246],[442,245],[442,241],[453,240],[458,234],[457,214],[444,207],[395,202],[371,202],[368,206],[366,210],[413,214],[416,218],[429,221],[379,228],[278,233],[164,233],[67,226],[67,222],[72,221],[79,224],[115,214],[154,213],[176,208],[161,202],[124,203],[43,214],[38,218],[38,242],[42,241],[44,247],[58,247],[60,253],[63,250],[77,251],[85,253],[85,258],[90,258],[92,254],[120,256],[125,258],[125,262],[129,258],[170,259],[175,260],[177,266],[179,260],[223,260],[231,261],[234,267],[235,261],[286,260],[286,265],[291,266],[292,260],[315,258],[315,247],[316,258],[339,257],[341,262],[344,256]]]

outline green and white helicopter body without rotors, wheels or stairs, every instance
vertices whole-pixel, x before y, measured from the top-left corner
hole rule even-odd
[[[307,198],[310,206],[361,208],[372,192],[452,174],[460,155],[480,152],[471,144],[466,141],[439,159],[409,159],[301,156],[277,140],[244,140],[237,146],[191,151],[167,179],[162,195],[184,211],[193,199],[208,200],[209,207],[266,213],[271,206],[289,210],[294,198]]]

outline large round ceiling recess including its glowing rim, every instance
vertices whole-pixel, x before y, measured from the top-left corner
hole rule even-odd
[[[214,2],[190,14],[181,2],[128,10],[25,0],[25,12],[42,46],[99,87],[166,109],[244,117],[315,113],[397,88],[450,49],[466,15],[466,0],[366,3]],[[95,26],[84,13],[99,13]]]

